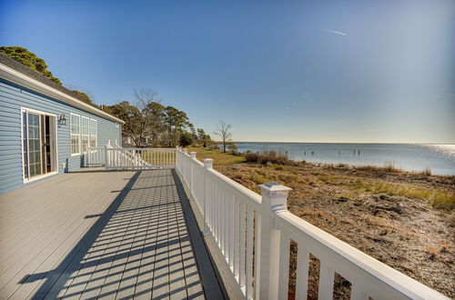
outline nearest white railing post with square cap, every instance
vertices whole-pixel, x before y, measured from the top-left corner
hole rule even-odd
[[[259,185],[262,194],[258,249],[258,299],[278,299],[279,237],[273,221],[278,211],[288,210],[288,186],[278,183]]]

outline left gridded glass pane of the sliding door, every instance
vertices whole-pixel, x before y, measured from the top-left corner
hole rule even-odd
[[[41,149],[39,141],[39,115],[28,114],[28,150],[30,177],[41,175]]]

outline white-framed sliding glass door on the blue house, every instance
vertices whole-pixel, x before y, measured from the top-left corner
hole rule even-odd
[[[56,115],[21,109],[24,181],[56,173]]]

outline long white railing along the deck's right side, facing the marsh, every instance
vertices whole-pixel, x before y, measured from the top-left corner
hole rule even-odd
[[[204,217],[221,255],[248,299],[287,299],[289,243],[298,245],[296,299],[307,299],[309,255],[319,259],[319,299],[332,299],[335,273],[351,284],[351,299],[446,299],[288,212],[290,188],[259,185],[258,195],[177,149],[177,171]]]

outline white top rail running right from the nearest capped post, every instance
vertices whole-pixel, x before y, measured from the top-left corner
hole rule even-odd
[[[319,229],[319,227],[309,224],[297,215],[288,211],[279,211],[276,217],[278,228],[285,231],[291,238],[298,239],[299,235],[306,235],[315,244],[320,245],[321,251],[327,249],[332,252],[325,257],[326,259],[330,259],[331,257],[330,260],[334,263],[341,262],[341,264],[348,263],[357,266],[358,268],[355,271],[357,273],[360,272],[360,274],[355,275],[357,280],[361,280],[364,275],[371,275],[404,297],[411,296],[414,299],[448,299],[445,295],[431,289],[429,286],[420,284],[420,282],[410,278],[408,275],[404,275],[389,265],[379,262],[379,260],[348,245],[337,237],[329,235],[327,232]],[[323,254],[321,253],[321,255]],[[339,257],[334,257],[334,255]],[[377,287],[380,288],[380,286]]]

